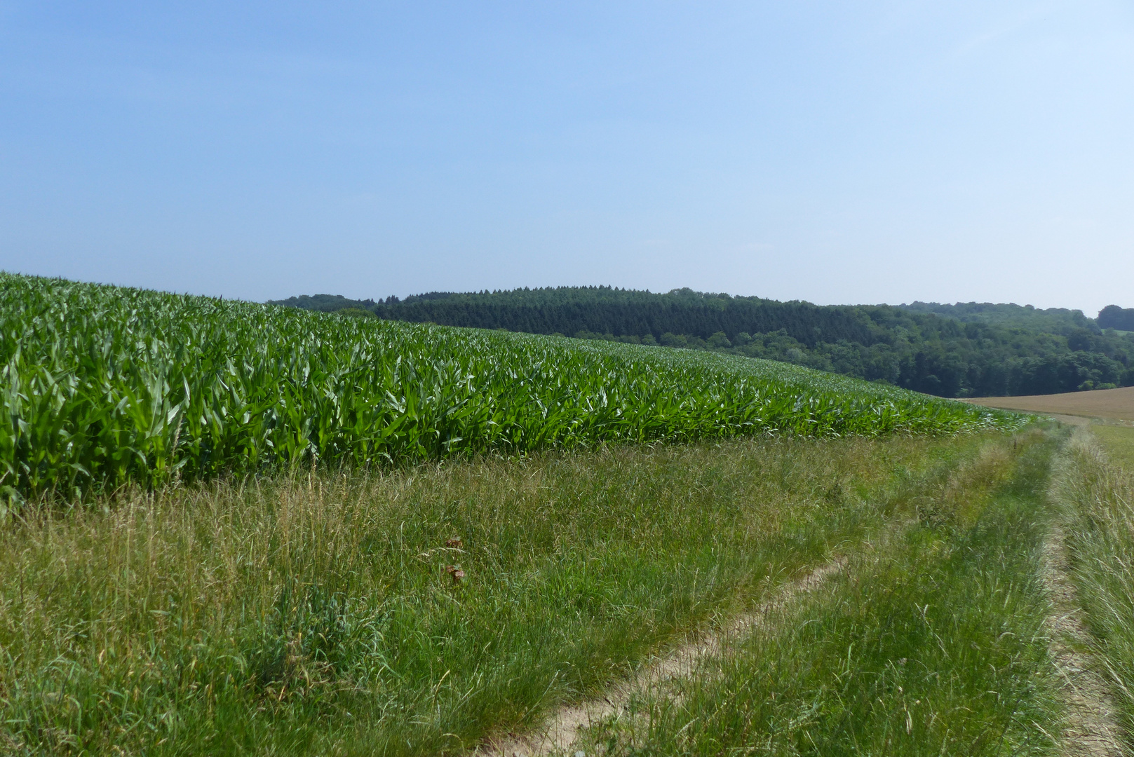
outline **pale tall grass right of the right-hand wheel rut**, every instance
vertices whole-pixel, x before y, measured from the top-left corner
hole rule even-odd
[[[1067,547],[1077,598],[1095,640],[1134,748],[1134,470],[1115,465],[1085,429],[1076,429],[1053,477],[1051,496],[1066,510]]]

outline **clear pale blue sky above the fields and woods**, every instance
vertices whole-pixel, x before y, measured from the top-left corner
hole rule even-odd
[[[1134,5],[0,0],[0,269],[1134,307]]]

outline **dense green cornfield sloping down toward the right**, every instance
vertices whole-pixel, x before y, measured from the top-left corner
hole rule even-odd
[[[0,491],[1016,416],[779,363],[0,273]]]

